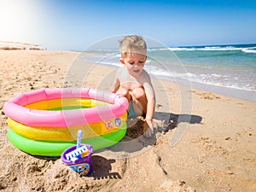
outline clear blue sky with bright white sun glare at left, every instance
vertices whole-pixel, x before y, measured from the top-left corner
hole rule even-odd
[[[251,44],[255,18],[254,0],[0,0],[0,41],[79,50],[139,34],[167,46]]]

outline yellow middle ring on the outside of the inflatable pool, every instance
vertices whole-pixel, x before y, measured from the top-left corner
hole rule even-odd
[[[79,130],[84,131],[83,139],[97,137],[109,132],[117,131],[125,125],[127,113],[115,119],[108,119],[88,125],[75,125],[71,127],[32,127],[23,125],[14,119],[8,119],[9,128],[18,133],[20,136],[38,141],[74,141],[73,137]]]

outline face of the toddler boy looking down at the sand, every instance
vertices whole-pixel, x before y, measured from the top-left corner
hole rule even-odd
[[[147,60],[147,56],[139,53],[127,53],[124,58],[120,59],[120,62],[125,64],[129,73],[132,76],[139,76],[143,72],[143,67]]]

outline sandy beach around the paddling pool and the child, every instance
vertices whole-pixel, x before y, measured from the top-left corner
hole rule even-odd
[[[129,119],[124,140],[93,155],[90,177],[80,177],[58,157],[15,148],[3,113],[11,97],[75,84],[109,90],[114,69],[94,66],[81,84],[75,75],[81,70],[70,70],[78,55],[0,50],[1,191],[256,190],[256,103],[156,79],[154,137],[141,137],[143,121]]]

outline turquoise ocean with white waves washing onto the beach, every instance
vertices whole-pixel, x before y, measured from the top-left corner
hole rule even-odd
[[[118,49],[90,50],[83,60],[121,67]],[[256,102],[256,44],[149,48],[153,78]]]

